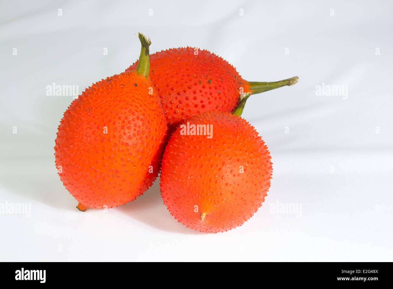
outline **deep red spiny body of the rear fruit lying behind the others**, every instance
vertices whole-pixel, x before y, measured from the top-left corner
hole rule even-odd
[[[137,64],[138,61],[126,71],[134,70]],[[202,112],[233,112],[240,94],[250,92],[248,82],[231,64],[214,53],[193,47],[151,54],[150,78],[162,102],[169,132]]]

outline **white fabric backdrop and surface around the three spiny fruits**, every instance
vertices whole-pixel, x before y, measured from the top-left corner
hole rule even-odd
[[[31,217],[0,215],[0,261],[392,261],[392,8],[2,1],[0,202],[31,203]],[[79,85],[81,93],[123,72],[139,57],[138,31],[151,38],[151,53],[206,48],[249,81],[299,76],[293,87],[252,96],[244,110],[274,173],[266,201],[243,226],[186,228],[169,215],[158,182],[134,202],[84,213],[62,186],[53,146],[72,97],[46,96],[46,86]],[[348,85],[348,98],[316,96],[322,83]],[[301,204],[301,215],[273,214],[277,202]]]

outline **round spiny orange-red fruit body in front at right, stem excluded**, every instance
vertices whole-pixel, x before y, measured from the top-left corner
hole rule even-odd
[[[192,135],[197,125],[209,126],[211,138],[207,130],[206,135],[203,131]],[[162,160],[161,195],[171,215],[187,227],[223,232],[241,226],[257,212],[271,177],[268,148],[246,120],[205,112],[184,121],[169,139]]]

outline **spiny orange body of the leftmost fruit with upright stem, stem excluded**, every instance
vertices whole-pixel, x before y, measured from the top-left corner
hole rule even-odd
[[[125,204],[156,179],[167,127],[151,87],[135,71],[114,75],[87,88],[64,113],[55,163],[66,189],[84,206]]]

